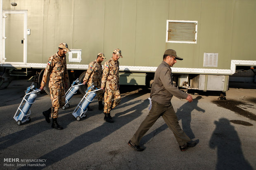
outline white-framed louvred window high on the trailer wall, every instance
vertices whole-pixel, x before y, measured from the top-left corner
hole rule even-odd
[[[197,21],[167,20],[166,42],[197,44]]]

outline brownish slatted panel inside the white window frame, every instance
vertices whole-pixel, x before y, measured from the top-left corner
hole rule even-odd
[[[168,41],[196,41],[196,23],[169,22]]]

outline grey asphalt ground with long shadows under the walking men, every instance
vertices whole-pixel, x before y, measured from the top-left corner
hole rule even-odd
[[[256,169],[256,88],[230,88],[224,104],[218,92],[188,91],[191,103],[173,97],[180,126],[197,146],[181,152],[160,117],[140,141],[145,150],[136,152],[127,142],[149,113],[149,90],[121,86],[121,104],[111,112],[113,124],[104,122],[97,99],[90,104],[93,111],[78,122],[71,113],[82,95],[74,95],[70,108],[59,110],[60,131],[42,115],[51,106],[45,93],[31,106],[31,122],[19,126],[13,119],[30,84],[13,80],[0,90],[1,170]]]

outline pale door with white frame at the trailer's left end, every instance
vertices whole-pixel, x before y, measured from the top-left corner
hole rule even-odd
[[[27,11],[3,10],[3,64],[26,64]]]

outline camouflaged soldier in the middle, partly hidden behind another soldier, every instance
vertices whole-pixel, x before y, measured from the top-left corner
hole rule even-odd
[[[101,62],[106,59],[103,53],[97,55],[97,59],[89,63],[89,68],[85,73],[83,78],[83,84],[87,84],[90,87],[93,83],[95,88],[100,89],[101,87],[101,77],[102,77],[102,65]],[[88,92],[90,92],[89,90]],[[103,90],[96,91],[98,95],[99,110],[103,110],[104,106],[102,105]],[[89,106],[88,106],[89,107]],[[89,108],[87,109],[89,110]],[[92,109],[91,109],[92,110]]]

